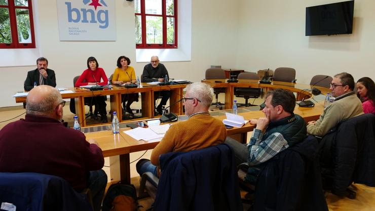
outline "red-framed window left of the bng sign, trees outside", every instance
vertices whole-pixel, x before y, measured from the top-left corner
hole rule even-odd
[[[0,0],[0,48],[35,48],[31,0]]]

